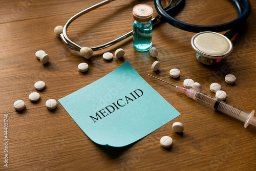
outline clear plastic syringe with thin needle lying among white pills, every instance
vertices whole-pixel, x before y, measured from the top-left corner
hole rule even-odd
[[[154,77],[153,75],[150,75],[150,74],[147,74],[151,77]],[[241,120],[244,122],[244,127],[247,127],[249,124],[252,124],[254,126],[256,126],[256,117],[254,117],[254,110],[249,113],[249,112],[246,112],[246,111],[243,111],[239,108],[236,108],[235,106],[233,105],[230,105],[224,101],[221,101],[215,97],[211,97],[207,94],[204,94],[204,93],[201,93],[201,92],[198,92],[194,89],[186,89],[186,88],[183,88],[183,87],[180,87],[180,86],[175,86],[174,84],[172,83],[169,83],[169,82],[166,82],[162,79],[159,79],[157,77],[154,77],[160,81],[163,81],[167,84],[170,84],[171,86],[174,86],[176,87],[176,89],[178,89],[179,91],[185,93],[188,97],[190,97],[191,99],[194,99],[196,101],[200,101],[208,106],[210,106],[211,108],[214,108],[224,114],[227,114],[233,118],[236,118],[238,120]]]

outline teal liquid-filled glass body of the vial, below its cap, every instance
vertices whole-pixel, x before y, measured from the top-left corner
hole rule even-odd
[[[152,47],[152,21],[145,23],[133,22],[133,46],[137,51],[144,52]]]

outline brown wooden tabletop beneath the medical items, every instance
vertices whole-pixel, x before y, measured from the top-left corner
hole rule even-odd
[[[255,170],[256,127],[230,118],[202,106],[165,83],[146,73],[182,86],[186,78],[194,79],[210,92],[212,82],[218,82],[227,92],[226,102],[251,112],[256,109],[256,26],[255,5],[243,29],[232,39],[234,49],[220,65],[207,67],[197,61],[190,47],[194,33],[174,28],[167,23],[154,27],[153,46],[158,57],[137,52],[132,37],[109,48],[97,51],[91,59],[67,48],[55,36],[56,26],[66,23],[75,13],[100,1],[0,1],[0,169],[1,170]],[[176,1],[174,1],[176,2]],[[132,30],[132,8],[153,1],[120,0],[100,7],[79,19],[68,30],[78,45],[93,47],[104,44]],[[165,4],[166,2],[163,2]],[[198,25],[215,25],[237,17],[229,1],[186,1],[176,16]],[[102,59],[104,52],[123,48],[123,59]],[[50,61],[42,65],[35,57],[44,50]],[[109,74],[129,60],[137,72],[181,115],[138,142],[120,148],[97,145],[80,130],[70,115],[58,103],[57,109],[46,109],[46,100],[60,99]],[[161,63],[157,72],[152,63]],[[80,73],[80,62],[89,64],[89,71]],[[169,70],[178,68],[178,79],[169,77]],[[227,72],[228,70],[228,72]],[[234,74],[236,83],[225,83],[226,74]],[[34,83],[46,82],[43,91]],[[39,92],[38,102],[30,102],[31,92]],[[22,99],[26,109],[17,112],[16,100]],[[4,114],[8,114],[8,168],[4,166]],[[185,125],[183,134],[172,131],[172,124]],[[168,135],[174,144],[170,149],[160,146],[160,138]]]

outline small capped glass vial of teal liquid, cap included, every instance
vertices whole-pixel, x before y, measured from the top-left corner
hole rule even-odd
[[[133,46],[137,51],[144,52],[152,47],[152,14],[152,7],[146,4],[133,8]]]

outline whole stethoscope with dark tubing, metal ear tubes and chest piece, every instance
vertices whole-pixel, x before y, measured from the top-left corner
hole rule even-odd
[[[59,36],[68,47],[76,51],[80,51],[81,55],[86,59],[89,59],[92,56],[93,51],[104,49],[133,35],[133,31],[130,31],[106,44],[91,48],[81,47],[69,39],[67,35],[67,29],[75,19],[112,1],[115,0],[102,1],[94,6],[91,6],[75,14],[66,22],[66,24],[63,27],[57,26],[55,28],[54,31],[56,35]],[[238,17],[236,19],[221,25],[198,26],[181,22],[180,20],[172,17],[172,15],[178,13],[184,7],[185,0],[179,0],[172,7],[170,7],[169,4],[165,8],[162,7],[161,0],[154,1],[155,8],[159,15],[152,19],[153,25],[158,23],[162,18],[174,27],[189,32],[196,32],[197,34],[191,38],[191,46],[196,51],[197,59],[206,65],[215,65],[216,63],[219,63],[222,58],[228,56],[231,53],[233,45],[230,39],[238,33],[241,25],[244,24],[245,20],[248,18],[251,11],[251,5],[248,0],[242,0],[242,4],[240,3],[239,0],[231,0],[231,2],[238,11]],[[226,30],[229,31],[226,32],[224,35],[217,33]],[[208,44],[208,42],[210,43]]]

